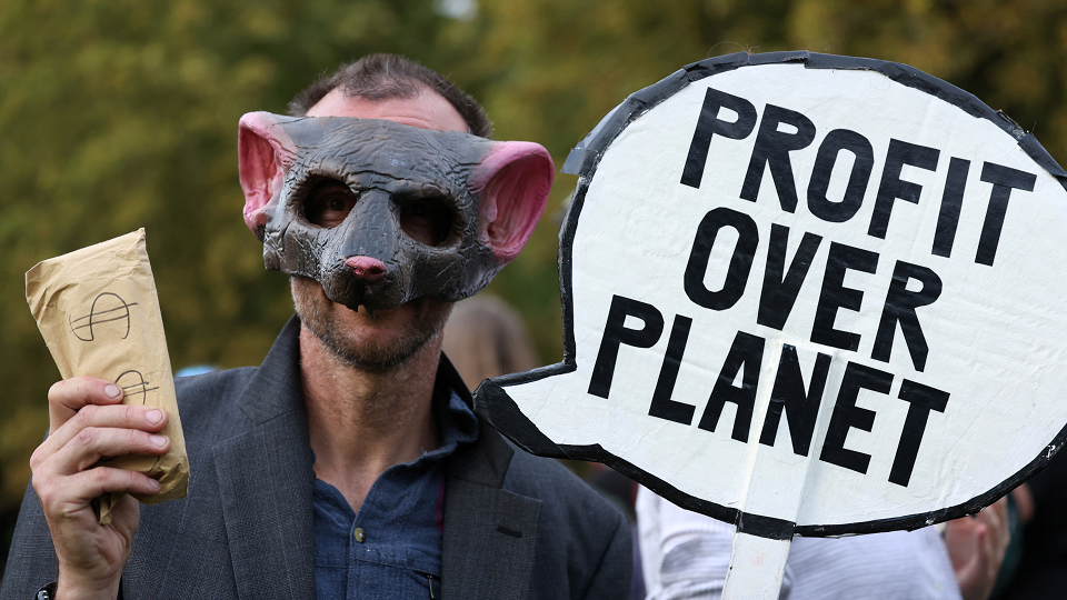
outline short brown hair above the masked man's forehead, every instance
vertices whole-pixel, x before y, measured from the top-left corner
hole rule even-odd
[[[470,133],[492,137],[492,123],[481,104],[437,71],[398,54],[368,54],[341,64],[298,93],[289,102],[289,113],[303,117],[335,89],[340,89],[349,98],[371,101],[407,100],[417,98],[425,90],[432,90],[452,104],[467,122]]]

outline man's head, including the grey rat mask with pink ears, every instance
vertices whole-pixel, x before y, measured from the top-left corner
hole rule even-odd
[[[447,316],[428,307],[477,292],[526,243],[554,174],[537,144],[459,132],[488,132],[480,107],[412,64],[371,57],[343,67],[345,77],[325,78],[293,102],[310,119],[241,119],[246,222],[265,242],[267,267],[295,277],[305,323],[332,316],[311,329],[351,363],[377,357],[386,368],[403,352],[386,357],[380,336],[330,343],[330,334],[352,329],[336,327],[345,313],[335,302],[349,319],[360,306],[385,316],[363,323],[370,329],[399,319],[393,332],[411,341],[399,346],[425,343],[418,339],[436,334]],[[366,77],[351,82],[352,73]],[[440,81],[452,98],[437,91]],[[463,114],[462,107],[476,110]]]

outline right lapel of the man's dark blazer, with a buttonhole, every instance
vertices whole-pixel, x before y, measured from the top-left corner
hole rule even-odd
[[[446,378],[470,403],[459,376],[441,358]],[[537,548],[541,501],[502,489],[515,451],[486,421],[478,441],[449,461],[445,496],[441,596],[526,600]]]

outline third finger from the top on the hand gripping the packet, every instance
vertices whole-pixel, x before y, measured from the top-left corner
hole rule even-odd
[[[70,476],[88,469],[104,457],[156,456],[162,454],[168,448],[170,440],[157,433],[137,429],[87,427],[52,456],[47,470]]]

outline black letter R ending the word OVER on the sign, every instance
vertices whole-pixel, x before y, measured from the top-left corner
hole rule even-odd
[[[916,279],[923,283],[919,291],[908,291],[908,280]],[[937,273],[904,261],[897,261],[893,270],[893,281],[889,282],[889,293],[886,294],[886,308],[881,311],[881,321],[878,323],[878,333],[875,334],[875,348],[870,358],[889,362],[893,352],[893,336],[900,323],[904,341],[908,343],[908,353],[911,354],[911,364],[916,371],[926,369],[926,357],[930,347],[923,336],[919,318],[915,309],[933,304],[941,294],[941,279]]]

